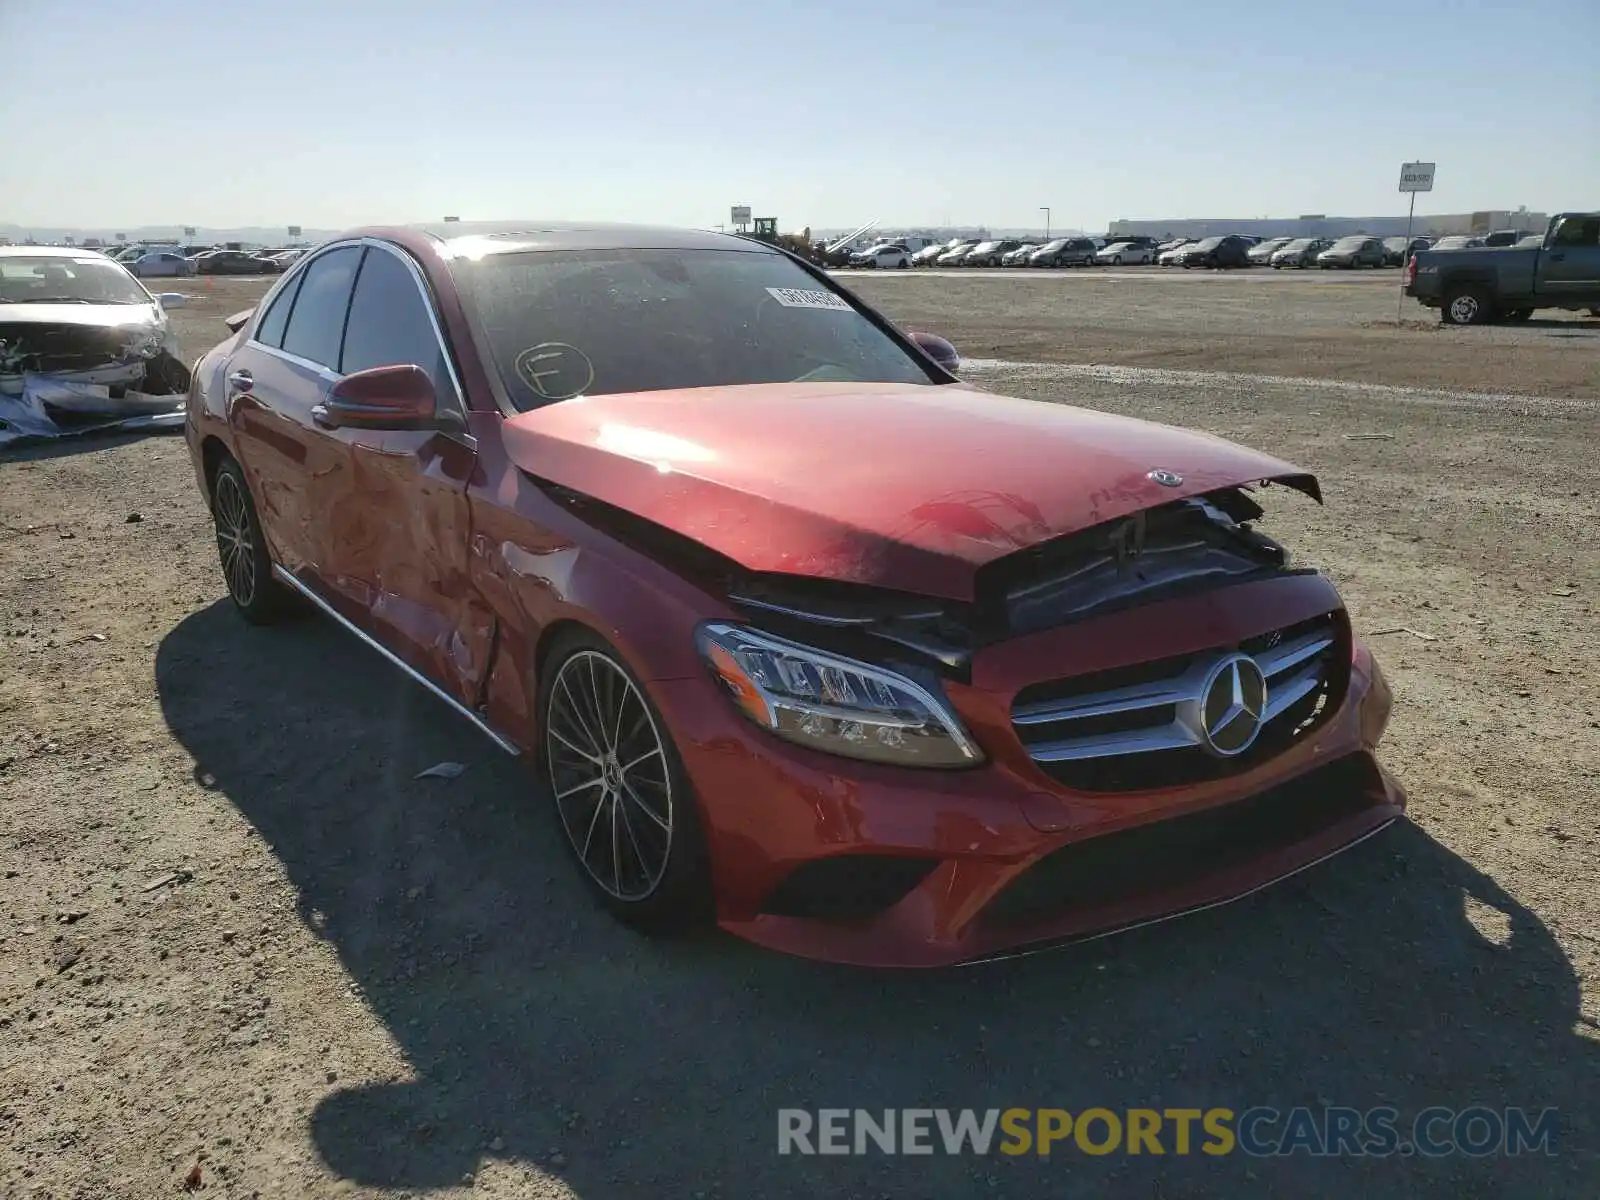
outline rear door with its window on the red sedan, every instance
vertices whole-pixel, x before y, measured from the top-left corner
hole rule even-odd
[[[229,421],[274,560],[350,619],[365,613],[328,579],[328,496],[349,486],[349,450],[310,410],[339,378],[339,347],[363,246],[310,259],[272,293],[224,373]]]

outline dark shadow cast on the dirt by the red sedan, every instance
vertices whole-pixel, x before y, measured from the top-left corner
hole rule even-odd
[[[584,1197],[1595,1194],[1578,978],[1528,909],[1413,826],[1122,938],[851,971],[614,925],[525,766],[326,621],[250,629],[213,605],[162,642],[157,685],[413,1067],[317,1109],[346,1179],[429,1189],[502,1157]],[[413,779],[440,760],[470,766]],[[1427,1106],[1555,1107],[1560,1141],[1341,1160],[1179,1155],[1170,1136],[1163,1157],[776,1146],[782,1107],[1328,1104],[1390,1104],[1402,1131]]]

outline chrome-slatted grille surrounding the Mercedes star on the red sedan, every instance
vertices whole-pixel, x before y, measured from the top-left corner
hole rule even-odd
[[[1245,654],[1266,678],[1254,742],[1222,757],[1206,747],[1205,688],[1219,662]],[[1214,779],[1282,752],[1330,714],[1349,677],[1342,614],[1237,646],[1035,683],[1018,693],[1011,725],[1048,774],[1083,790],[1142,790]]]

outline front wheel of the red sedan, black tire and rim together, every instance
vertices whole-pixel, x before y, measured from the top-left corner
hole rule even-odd
[[[699,805],[645,686],[616,648],[587,629],[558,635],[544,662],[539,770],[584,883],[635,930],[677,933],[704,925],[714,904]],[[605,718],[598,736],[584,717]],[[618,733],[608,738],[606,726]],[[595,790],[600,797],[590,803]],[[627,859],[637,869],[632,875]]]

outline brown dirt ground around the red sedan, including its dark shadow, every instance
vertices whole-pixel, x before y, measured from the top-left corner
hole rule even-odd
[[[0,1197],[171,1197],[197,1166],[240,1198],[1600,1194],[1595,323],[1382,328],[1376,277],[861,286],[1014,360],[973,366],[986,386],[1317,470],[1326,507],[1274,496],[1269,530],[1384,664],[1413,821],[1235,906],[984,968],[646,941],[586,899],[514,760],[328,622],[234,616],[181,438],[16,451]],[[184,290],[194,354],[259,283]],[[413,779],[442,760],[466,774]],[[776,1154],[779,1107],[1296,1104],[1555,1107],[1560,1141]]]

